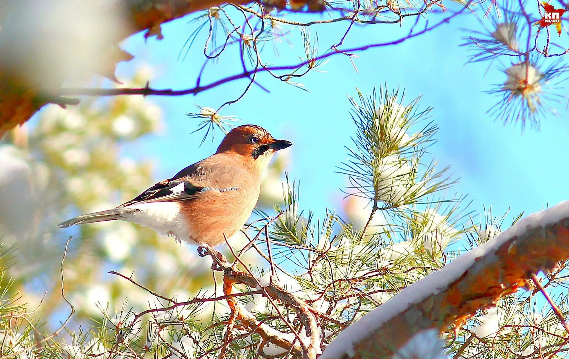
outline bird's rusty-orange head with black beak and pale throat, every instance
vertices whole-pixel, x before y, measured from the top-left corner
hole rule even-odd
[[[217,148],[217,153],[234,152],[246,156],[259,168],[265,169],[274,153],[287,148],[292,143],[287,140],[275,140],[260,126],[245,124],[229,131]]]

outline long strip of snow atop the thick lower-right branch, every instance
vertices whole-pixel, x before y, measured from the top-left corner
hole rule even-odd
[[[460,278],[461,275],[474,264],[476,258],[492,253],[505,241],[526,232],[528,227],[535,228],[544,226],[545,224],[559,222],[559,220],[564,218],[569,218],[569,201],[559,203],[547,210],[519,220],[493,240],[462,254],[442,269],[406,287],[399,294],[391,298],[391,300],[381,304],[380,307],[369,312],[369,314],[364,315],[356,323],[341,332],[336,339],[328,345],[319,359],[341,358],[345,353],[353,356],[354,344],[372,335],[372,333],[377,331],[387,320],[401,314],[409,308],[411,304],[418,303],[430,295],[438,294],[447,289],[450,283]]]

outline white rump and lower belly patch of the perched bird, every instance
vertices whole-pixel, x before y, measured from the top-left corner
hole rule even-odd
[[[180,212],[179,202],[152,202],[131,204],[137,212],[124,214],[121,219],[154,229],[160,234],[173,233],[179,240],[190,240],[189,223]]]

